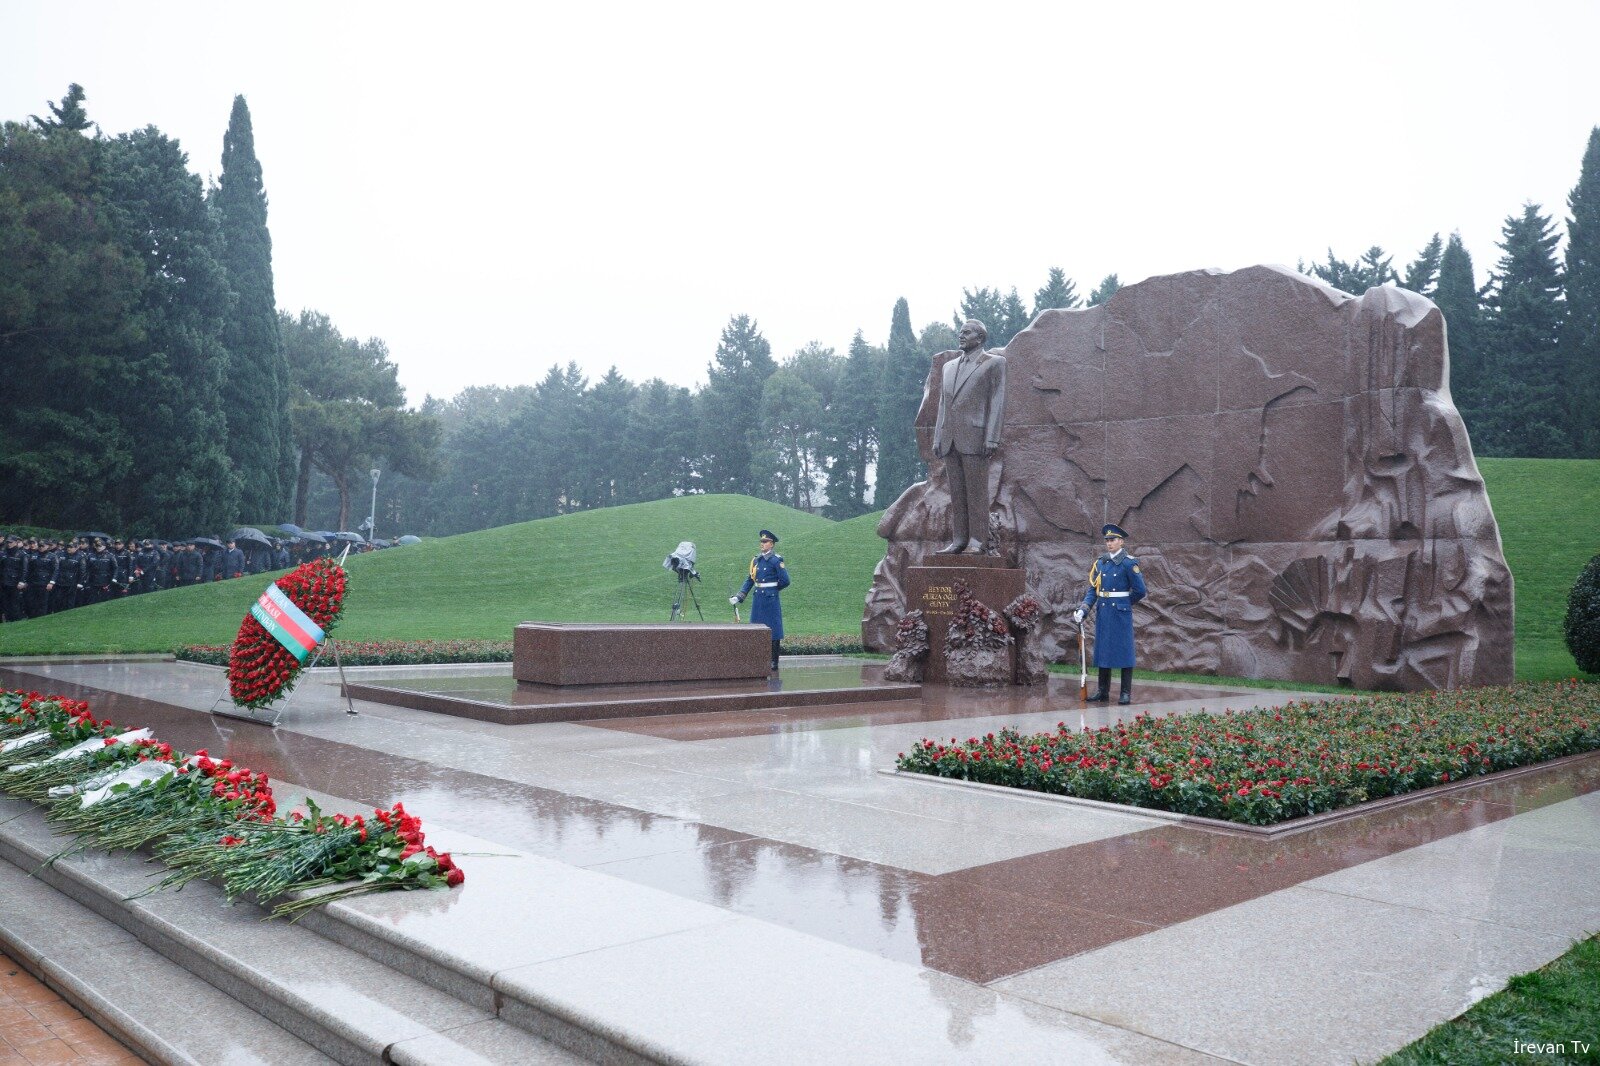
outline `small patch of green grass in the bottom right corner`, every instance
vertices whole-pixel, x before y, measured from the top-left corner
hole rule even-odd
[[[1504,989],[1379,1066],[1501,1063],[1600,1063],[1600,938],[1581,940],[1542,970],[1514,976]]]

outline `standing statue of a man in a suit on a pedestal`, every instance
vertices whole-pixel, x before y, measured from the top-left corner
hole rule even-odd
[[[989,330],[978,319],[962,327],[962,357],[944,365],[933,453],[944,459],[950,490],[950,546],[946,552],[987,551],[989,458],[1005,427],[1005,357],[984,351]]]

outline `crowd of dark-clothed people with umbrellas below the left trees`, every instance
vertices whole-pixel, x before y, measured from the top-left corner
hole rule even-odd
[[[0,621],[42,618],[123,595],[286,570],[341,551],[341,541],[318,543],[299,536],[227,541],[6,536],[0,546]]]

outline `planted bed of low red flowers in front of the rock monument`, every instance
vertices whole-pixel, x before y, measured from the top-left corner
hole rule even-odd
[[[1546,682],[923,739],[896,768],[1270,826],[1587,751],[1600,685]]]

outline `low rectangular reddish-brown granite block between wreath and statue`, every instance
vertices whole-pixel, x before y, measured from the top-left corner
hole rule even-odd
[[[512,675],[541,685],[765,679],[771,640],[749,623],[522,623]]]

